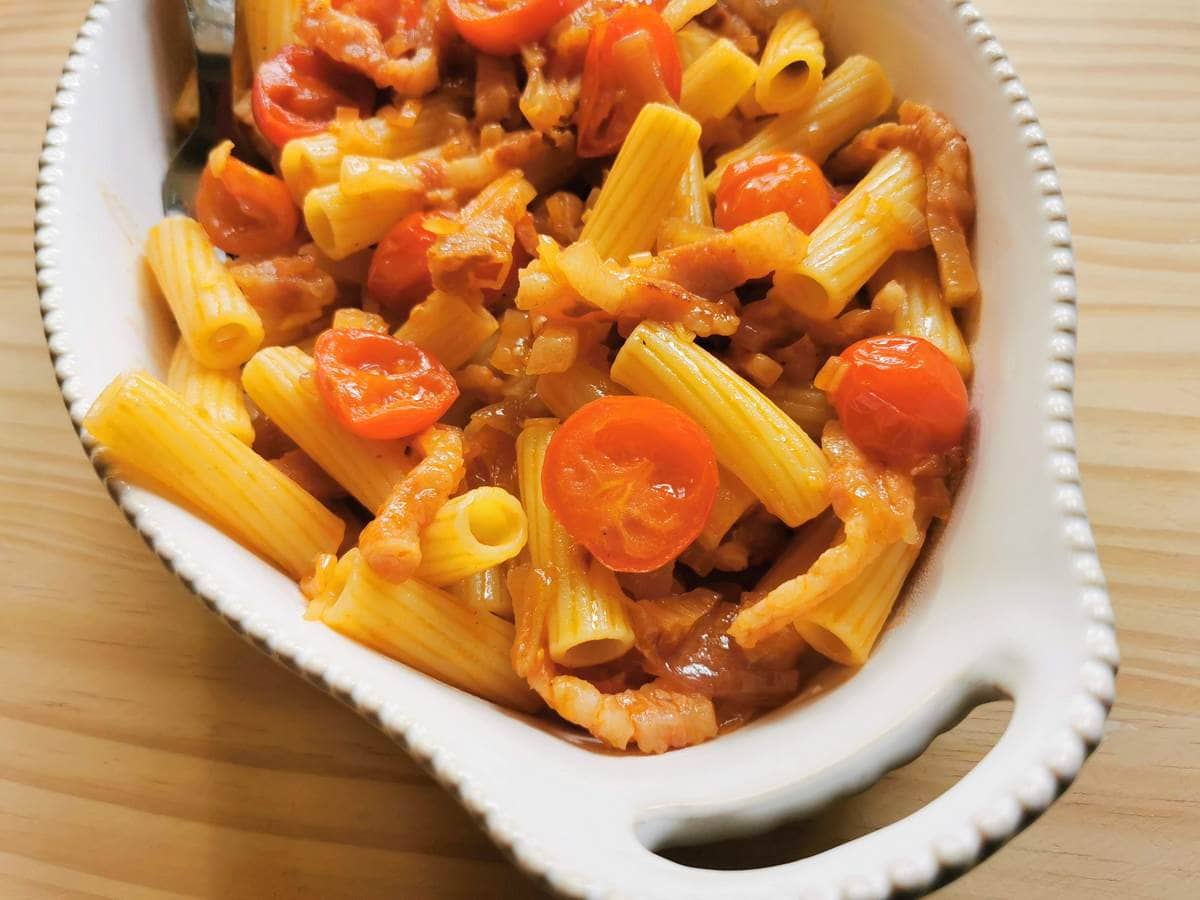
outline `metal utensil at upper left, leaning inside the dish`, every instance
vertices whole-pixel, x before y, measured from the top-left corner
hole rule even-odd
[[[196,47],[199,115],[196,128],[175,152],[162,180],[163,212],[187,214],[192,210],[209,150],[221,137],[220,122],[229,118],[229,58],[233,54],[235,0],[186,0],[186,4],[187,23]]]

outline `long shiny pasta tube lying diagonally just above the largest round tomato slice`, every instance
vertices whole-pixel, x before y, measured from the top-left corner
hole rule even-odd
[[[674,329],[658,322],[634,329],[613,360],[612,377],[695,419],[718,462],[788,526],[829,505],[821,448],[754,385]]]

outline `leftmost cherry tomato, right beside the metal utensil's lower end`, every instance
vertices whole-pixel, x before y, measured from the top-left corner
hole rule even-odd
[[[287,185],[229,154],[233,143],[212,148],[196,192],[196,218],[226,253],[266,256],[295,236],[300,214]]]

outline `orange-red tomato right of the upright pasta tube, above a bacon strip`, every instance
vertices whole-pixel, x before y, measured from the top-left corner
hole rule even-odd
[[[718,228],[738,226],[773,212],[786,212],[806,234],[834,208],[834,193],[821,167],[800,154],[766,154],[725,169],[716,188]]]

